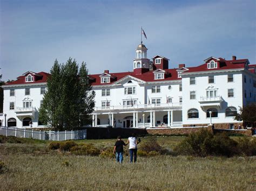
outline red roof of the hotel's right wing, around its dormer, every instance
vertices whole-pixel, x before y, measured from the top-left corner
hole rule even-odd
[[[217,68],[208,69],[207,68],[207,62],[206,62],[203,65],[200,65],[200,66],[197,66],[197,67],[191,67],[191,68],[189,68],[189,70],[185,71],[184,73],[245,68],[245,63],[247,61],[248,61],[248,59],[225,60],[223,58],[219,58],[219,61],[217,61],[218,62],[218,67]]]

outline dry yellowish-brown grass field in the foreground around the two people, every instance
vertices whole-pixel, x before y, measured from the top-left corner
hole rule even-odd
[[[184,137],[158,138],[173,148]],[[143,138],[143,142],[147,139]],[[79,140],[96,146],[113,146],[115,140]],[[100,190],[255,190],[255,157],[194,158],[170,155],[138,157],[137,164],[114,159],[76,156],[49,151],[48,142],[26,139],[22,144],[0,144],[0,189]]]

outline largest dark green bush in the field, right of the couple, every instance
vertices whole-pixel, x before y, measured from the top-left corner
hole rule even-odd
[[[237,142],[227,136],[226,133],[217,133],[215,136],[211,131],[200,130],[191,133],[185,140],[178,144],[174,151],[182,155],[223,155],[231,157],[238,154]]]

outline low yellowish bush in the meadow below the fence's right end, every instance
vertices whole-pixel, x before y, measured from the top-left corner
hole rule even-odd
[[[76,155],[98,156],[100,154],[100,150],[93,146],[93,144],[79,144],[72,147],[70,151]]]

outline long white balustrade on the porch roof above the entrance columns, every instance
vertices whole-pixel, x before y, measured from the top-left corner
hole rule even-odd
[[[110,106],[107,106],[107,107],[95,107],[95,111],[99,111],[99,110],[123,110],[123,109],[172,108],[172,107],[181,107],[181,106],[182,106],[182,103],[110,105]]]

